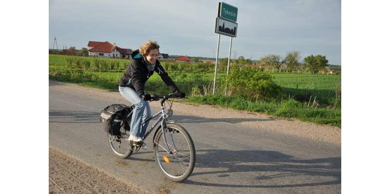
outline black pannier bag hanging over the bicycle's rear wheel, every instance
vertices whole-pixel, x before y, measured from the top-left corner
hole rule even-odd
[[[123,119],[122,110],[128,106],[122,104],[110,105],[100,112],[100,122],[103,130],[112,135],[120,135],[120,123]]]

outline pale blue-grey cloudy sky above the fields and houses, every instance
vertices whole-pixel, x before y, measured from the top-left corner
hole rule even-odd
[[[172,55],[216,57],[219,0],[49,0],[49,49],[109,41],[138,49],[147,39]],[[341,0],[225,0],[238,8],[231,57],[259,60],[299,51],[341,65]],[[57,45],[54,43],[57,38]],[[218,58],[228,57],[221,35]]]

